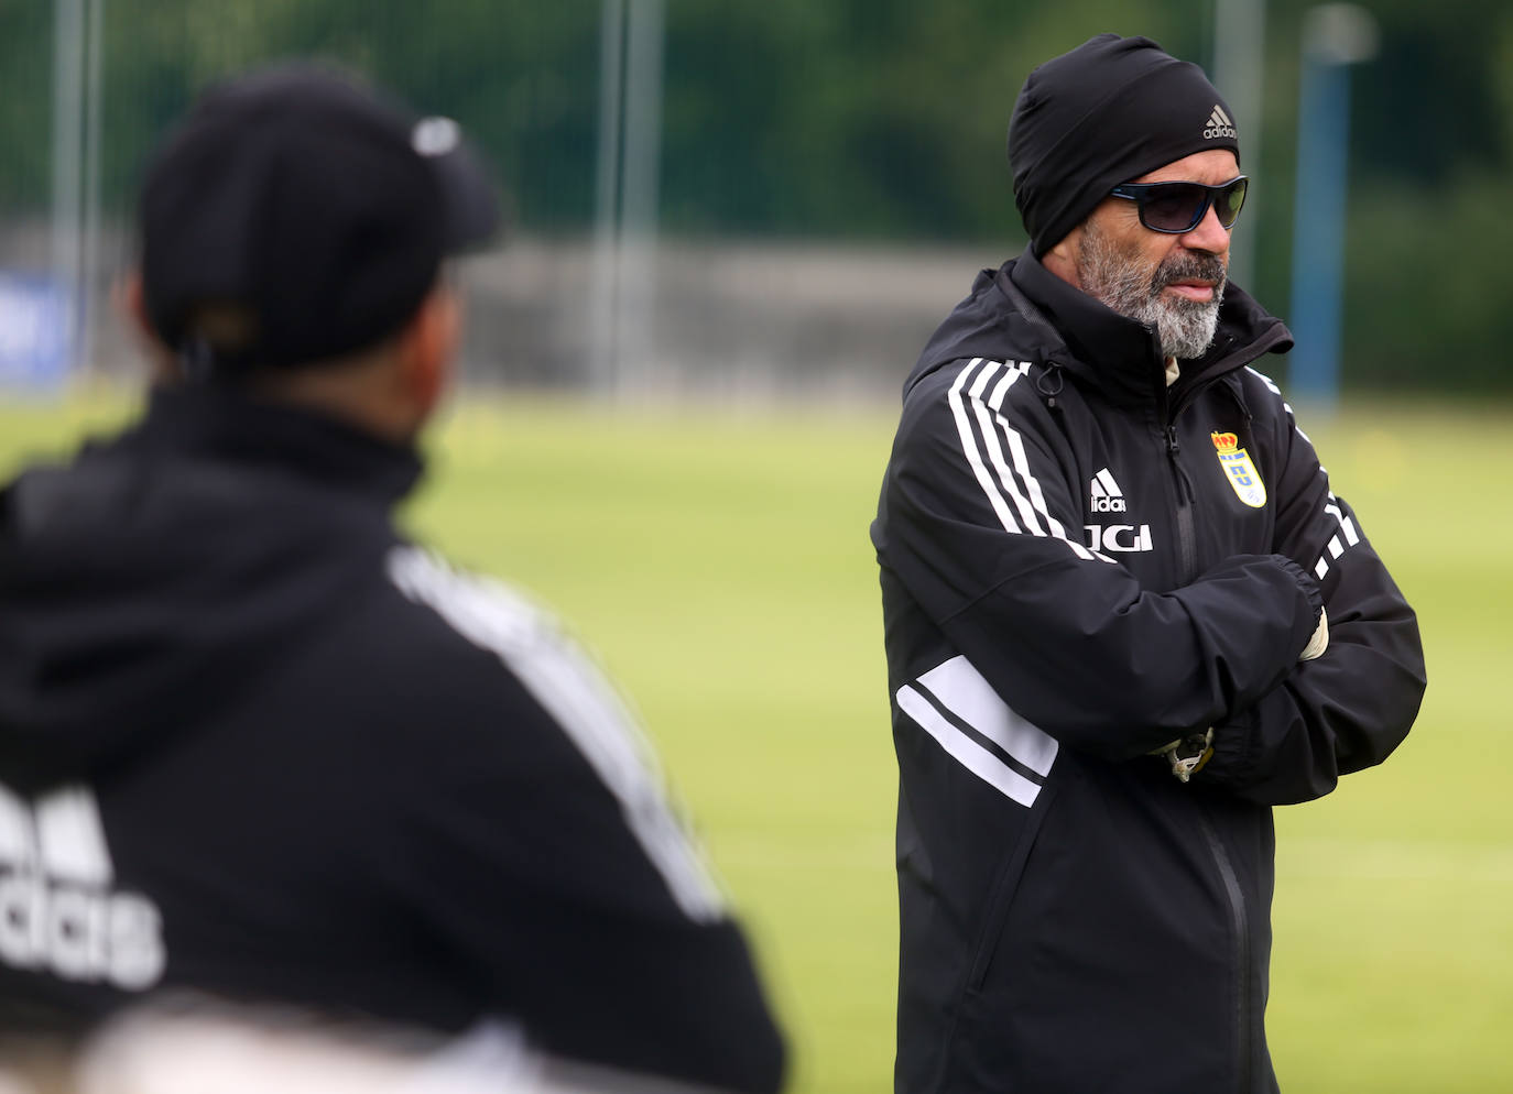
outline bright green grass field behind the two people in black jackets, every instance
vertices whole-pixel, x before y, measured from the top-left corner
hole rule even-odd
[[[120,416],[0,404],[0,471]],[[1304,416],[1306,418],[1306,416]],[[1304,421],[1307,425],[1307,418]],[[793,1089],[891,1089],[894,764],[867,522],[890,409],[457,407],[410,524],[555,605],[629,692],[738,902]],[[1513,409],[1309,430],[1424,628],[1409,741],[1280,810],[1269,1030],[1289,1094],[1513,1089]],[[1180,1050],[1182,1015],[1173,1015]]]

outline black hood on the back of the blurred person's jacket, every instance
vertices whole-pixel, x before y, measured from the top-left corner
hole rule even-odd
[[[219,389],[0,493],[0,781],[89,778],[244,688],[378,572],[413,451]],[[375,534],[378,533],[378,534]],[[290,636],[297,636],[290,639]]]

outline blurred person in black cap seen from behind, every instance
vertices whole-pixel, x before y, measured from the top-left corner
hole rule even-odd
[[[517,1043],[592,1089],[779,1088],[626,707],[392,521],[457,351],[443,260],[495,221],[454,123],[306,65],[212,89],[150,163],[124,294],[145,416],[0,493],[12,1046],[281,1003],[300,1035]],[[231,1009],[157,1009],[188,990]]]

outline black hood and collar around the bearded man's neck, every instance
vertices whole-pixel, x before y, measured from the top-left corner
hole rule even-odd
[[[1183,362],[1179,383],[1206,383],[1291,348],[1286,325],[1230,283],[1213,343],[1198,360]],[[1154,330],[1067,284],[1029,251],[977,274],[971,294],[926,342],[903,393],[943,365],[971,357],[1056,365],[1112,398],[1148,399],[1165,387]]]

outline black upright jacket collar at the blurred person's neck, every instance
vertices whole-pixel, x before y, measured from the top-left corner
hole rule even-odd
[[[218,384],[154,387],[147,415],[120,443],[142,454],[283,471],[384,505],[415,489],[424,472],[410,445]]]

